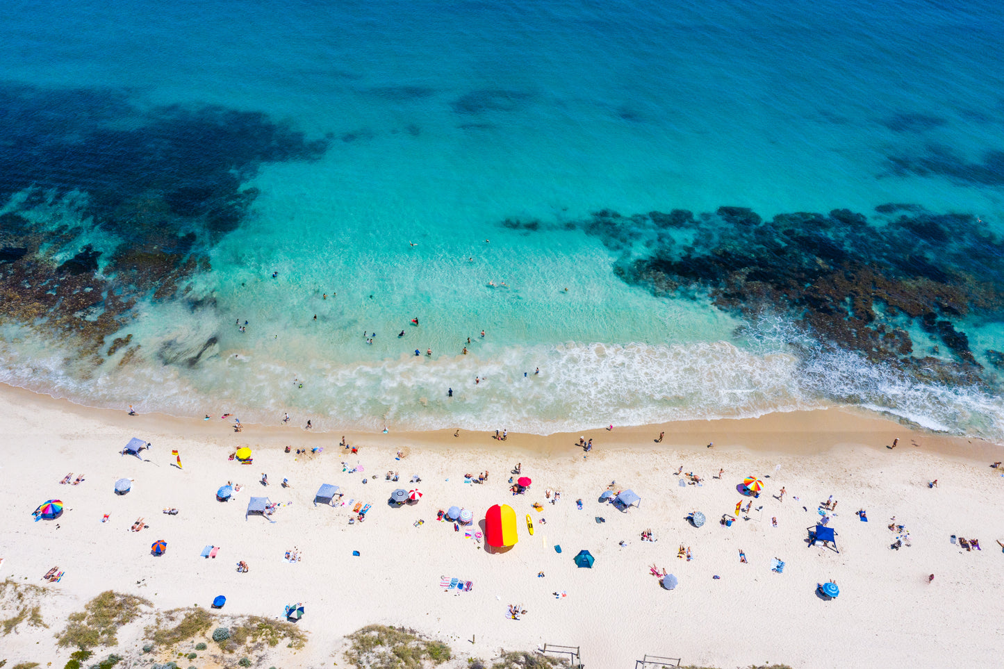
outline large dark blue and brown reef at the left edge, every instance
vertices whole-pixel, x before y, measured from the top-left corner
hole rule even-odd
[[[0,319],[69,341],[93,366],[142,346],[104,347],[140,299],[184,296],[209,270],[263,164],[316,160],[329,146],[265,114],[145,109],[127,90],[0,82]]]

